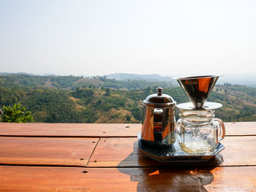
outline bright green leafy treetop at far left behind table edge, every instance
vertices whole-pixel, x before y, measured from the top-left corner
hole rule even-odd
[[[13,107],[4,106],[4,115],[2,118],[2,122],[7,123],[27,123],[34,121],[33,116],[30,111],[26,111],[26,108],[18,102],[18,104],[14,104]]]

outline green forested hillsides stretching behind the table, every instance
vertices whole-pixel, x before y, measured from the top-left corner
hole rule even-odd
[[[164,87],[164,93],[177,103],[189,101],[179,86],[168,82],[11,74],[0,76],[0,107],[20,101],[36,122],[140,123],[142,101],[158,86]],[[215,115],[224,121],[256,120],[255,88],[216,85],[208,101],[223,104]]]

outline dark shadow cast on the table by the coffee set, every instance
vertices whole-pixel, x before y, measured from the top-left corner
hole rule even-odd
[[[129,166],[127,162],[135,157],[138,167]],[[134,142],[132,153],[118,164],[118,171],[138,182],[137,191],[207,191],[204,185],[214,180],[211,170],[222,162],[223,157],[218,154],[208,162],[160,163],[146,157]]]

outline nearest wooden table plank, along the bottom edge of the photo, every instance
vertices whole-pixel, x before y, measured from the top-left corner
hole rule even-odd
[[[0,166],[0,191],[256,191],[256,167]]]

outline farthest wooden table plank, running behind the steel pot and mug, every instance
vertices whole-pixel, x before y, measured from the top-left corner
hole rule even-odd
[[[256,122],[225,123],[226,135],[256,135]],[[0,136],[137,137],[141,125],[125,123],[0,123]]]

